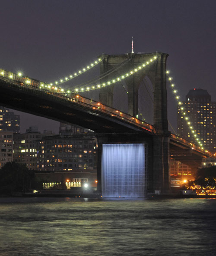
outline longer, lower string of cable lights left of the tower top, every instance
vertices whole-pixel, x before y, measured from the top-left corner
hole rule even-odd
[[[91,91],[91,90],[95,90],[95,89],[100,89],[100,88],[103,88],[108,85],[112,85],[112,84],[119,82],[123,79],[126,79],[128,76],[133,75],[134,73],[140,71],[141,69],[145,68],[146,66],[148,66],[151,62],[153,62],[156,59],[157,59],[157,56],[154,56],[152,59],[149,59],[149,61],[143,63],[138,68],[130,70],[126,74],[120,75],[119,77],[112,79],[111,81],[103,82],[102,84],[98,84],[98,85],[92,85],[92,86],[89,85],[88,87],[81,88],[81,89],[76,88],[75,91],[73,91],[73,89],[71,89],[71,92],[72,93],[87,92],[87,91]]]

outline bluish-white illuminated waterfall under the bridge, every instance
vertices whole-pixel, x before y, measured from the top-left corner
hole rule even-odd
[[[103,144],[103,197],[144,197],[145,181],[144,144]]]

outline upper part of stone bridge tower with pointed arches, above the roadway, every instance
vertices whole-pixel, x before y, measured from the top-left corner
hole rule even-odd
[[[104,60],[100,63],[101,77],[108,71],[105,80],[116,78],[122,74],[136,69],[143,63],[157,56],[156,61],[146,68],[130,75],[125,79],[128,90],[128,114],[136,117],[138,115],[138,90],[142,79],[148,75],[153,85],[154,116],[153,125],[159,134],[168,131],[167,120],[167,91],[166,91],[166,59],[167,53],[143,53],[103,55]],[[113,106],[113,86],[110,85],[100,89],[99,100],[105,105]]]

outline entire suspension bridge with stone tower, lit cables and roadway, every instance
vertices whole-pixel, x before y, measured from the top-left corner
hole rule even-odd
[[[142,191],[169,193],[171,157],[196,170],[202,158],[211,154],[198,137],[194,144],[169,131],[167,85],[177,103],[181,101],[167,71],[167,58],[166,53],[101,55],[89,66],[50,83],[0,69],[0,105],[94,131],[99,191],[109,190],[114,175],[116,186],[130,180]],[[95,66],[100,67],[98,77],[76,87],[69,85]],[[182,118],[190,126],[184,109]],[[108,156],[110,147],[114,155]],[[118,171],[114,172],[110,166],[117,155]],[[125,174],[128,158],[135,167]]]

